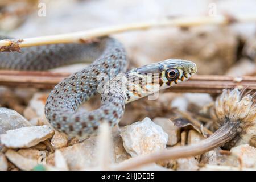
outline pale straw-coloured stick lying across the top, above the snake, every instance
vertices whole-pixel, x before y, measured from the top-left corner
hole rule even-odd
[[[20,48],[30,46],[40,46],[45,44],[57,44],[57,43],[79,43],[100,36],[107,36],[110,34],[117,34],[132,30],[144,30],[153,27],[167,27],[167,26],[178,26],[178,27],[191,27],[200,26],[205,24],[229,24],[233,22],[256,22],[256,15],[237,15],[232,16],[200,16],[200,17],[183,17],[183,18],[172,18],[155,20],[151,22],[131,23],[123,24],[119,26],[110,26],[104,28],[94,28],[92,30],[72,32],[69,34],[49,35],[37,38],[20,39],[18,42]],[[0,40],[0,51],[6,51],[1,47],[9,47],[17,42],[13,40]],[[16,51],[16,49],[14,49]]]

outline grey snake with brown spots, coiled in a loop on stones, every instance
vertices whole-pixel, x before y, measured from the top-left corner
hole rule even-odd
[[[55,86],[44,112],[57,131],[80,138],[96,134],[103,122],[111,127],[117,125],[127,103],[188,80],[197,71],[195,63],[181,59],[127,71],[123,44],[109,36],[90,43],[49,44],[0,53],[0,69],[42,71],[73,63],[90,64]],[[101,94],[98,109],[79,110],[97,93]]]

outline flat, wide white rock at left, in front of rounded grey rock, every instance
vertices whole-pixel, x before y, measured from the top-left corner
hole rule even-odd
[[[8,148],[29,148],[48,138],[51,138],[54,130],[47,125],[22,127],[8,130],[0,135],[2,144]]]

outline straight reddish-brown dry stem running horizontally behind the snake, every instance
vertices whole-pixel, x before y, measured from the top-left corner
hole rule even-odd
[[[52,89],[70,73],[52,73],[35,71],[0,71],[0,85],[9,87],[32,87]],[[219,75],[195,75],[189,80],[164,89],[164,92],[196,92],[196,93],[222,93],[223,89],[246,88],[256,92],[256,77],[243,76],[240,82],[236,77]]]

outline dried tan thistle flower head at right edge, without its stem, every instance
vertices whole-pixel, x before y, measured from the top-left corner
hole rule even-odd
[[[211,112],[214,127],[218,129],[227,123],[236,126],[236,135],[224,148],[238,144],[256,143],[256,103],[251,94],[243,94],[238,89],[223,90]]]

